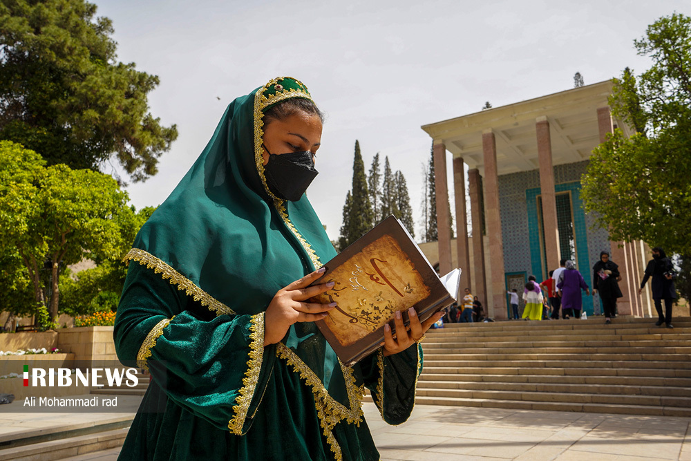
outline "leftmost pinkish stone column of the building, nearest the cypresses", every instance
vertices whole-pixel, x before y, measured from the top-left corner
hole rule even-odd
[[[451,210],[448,208],[446,185],[446,146],[434,144],[435,194],[437,194],[437,243],[439,245],[439,275],[451,270]]]

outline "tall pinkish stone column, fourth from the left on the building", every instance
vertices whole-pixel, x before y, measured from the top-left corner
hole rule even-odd
[[[484,160],[484,205],[489,237],[490,280],[492,299],[487,301],[490,317],[504,319],[507,315],[506,281],[504,280],[504,243],[502,220],[499,213],[499,177],[497,168],[497,143],[491,129],[482,133]]]

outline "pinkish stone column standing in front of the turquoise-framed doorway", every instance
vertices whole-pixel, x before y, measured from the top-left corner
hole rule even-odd
[[[552,146],[547,117],[535,120],[538,137],[538,162],[540,163],[540,195],[542,196],[542,227],[545,229],[545,256],[547,256],[547,277],[550,270],[559,267],[559,229],[557,226],[557,200],[554,191],[554,168],[552,167]],[[536,274],[537,275],[537,274]]]

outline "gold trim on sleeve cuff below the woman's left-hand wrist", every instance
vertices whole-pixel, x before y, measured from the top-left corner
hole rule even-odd
[[[243,425],[249,404],[254,397],[254,391],[259,382],[259,372],[261,372],[262,355],[264,352],[264,312],[249,317],[249,361],[247,361],[247,371],[243,378],[243,387],[240,388],[240,395],[235,399],[236,405],[233,407],[235,416],[228,422],[228,429],[236,435],[243,435]]]

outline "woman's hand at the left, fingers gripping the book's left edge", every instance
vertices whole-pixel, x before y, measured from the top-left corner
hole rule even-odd
[[[293,323],[321,320],[327,316],[326,312],[336,307],[336,303],[303,302],[333,288],[333,282],[309,286],[324,272],[322,267],[276,292],[264,316],[264,346],[281,341]]]

